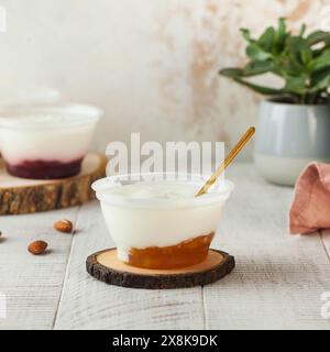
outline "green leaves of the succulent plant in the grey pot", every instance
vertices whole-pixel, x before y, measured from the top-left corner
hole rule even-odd
[[[243,68],[224,68],[220,75],[246,86],[258,94],[293,103],[322,103],[330,100],[330,33],[315,31],[305,34],[302,24],[293,35],[286,20],[278,20],[277,29],[267,28],[258,38],[246,29],[241,33],[248,42],[248,64]],[[249,80],[266,73],[282,77],[282,88],[264,87]]]

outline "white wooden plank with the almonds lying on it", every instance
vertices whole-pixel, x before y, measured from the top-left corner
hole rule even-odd
[[[53,229],[56,220],[75,222],[78,208],[24,216],[1,216],[0,293],[7,297],[1,329],[52,329],[62,293],[72,235]],[[32,255],[30,242],[44,240],[50,252]]]

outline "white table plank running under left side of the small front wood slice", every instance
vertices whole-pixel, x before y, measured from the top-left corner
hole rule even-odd
[[[90,277],[86,257],[113,246],[99,206],[81,208],[55,329],[202,329],[200,287],[146,290],[108,286]]]

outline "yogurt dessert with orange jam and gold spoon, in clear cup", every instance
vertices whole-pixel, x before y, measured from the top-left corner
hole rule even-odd
[[[172,270],[206,260],[223,205],[233,189],[231,182],[195,197],[201,180],[127,183],[122,177],[92,184],[121,261],[138,267]]]

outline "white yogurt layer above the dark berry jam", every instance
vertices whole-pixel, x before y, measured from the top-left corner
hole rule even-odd
[[[0,118],[0,151],[13,165],[36,160],[78,160],[88,151],[97,121],[96,114],[70,114],[59,109],[4,116]]]

